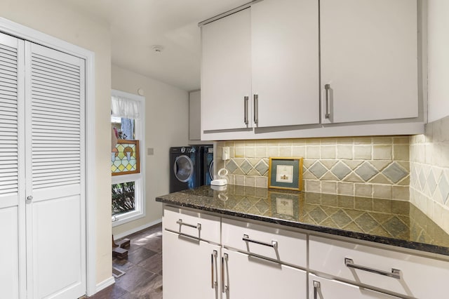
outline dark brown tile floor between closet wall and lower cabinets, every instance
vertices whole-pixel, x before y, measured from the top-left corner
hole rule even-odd
[[[94,299],[162,298],[162,225],[128,236],[128,259],[112,260],[112,266],[126,272],[115,284],[96,293]]]

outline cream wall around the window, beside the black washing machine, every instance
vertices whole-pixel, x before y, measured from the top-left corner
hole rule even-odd
[[[188,144],[189,94],[116,65],[112,65],[112,88],[134,94],[142,88],[145,93],[145,154],[148,147],[154,148],[154,155],[145,157],[147,215],[114,227],[114,235],[119,235],[162,217],[162,205],[155,198],[169,192],[170,147]]]

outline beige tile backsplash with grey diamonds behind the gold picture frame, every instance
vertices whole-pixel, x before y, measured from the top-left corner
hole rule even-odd
[[[231,184],[267,187],[269,157],[303,157],[304,191],[409,200],[409,146],[408,136],[217,142],[215,169],[227,168]]]

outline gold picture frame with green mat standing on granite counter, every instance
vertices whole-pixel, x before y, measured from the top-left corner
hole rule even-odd
[[[269,157],[268,187],[302,191],[302,157]]]

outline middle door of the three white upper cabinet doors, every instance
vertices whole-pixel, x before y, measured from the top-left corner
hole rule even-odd
[[[319,123],[318,10],[316,0],[251,6],[255,126]]]

